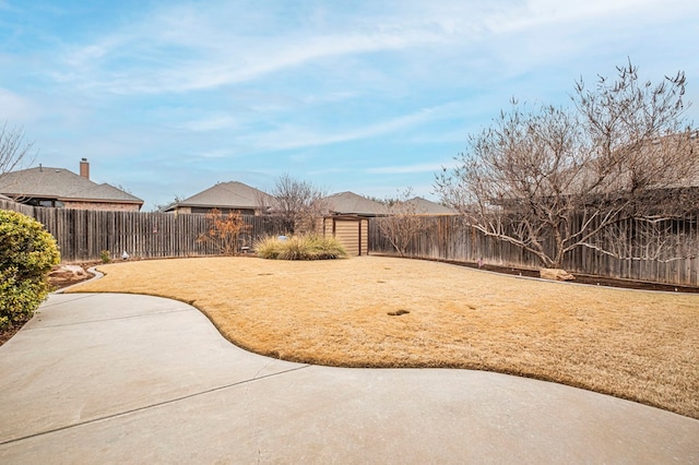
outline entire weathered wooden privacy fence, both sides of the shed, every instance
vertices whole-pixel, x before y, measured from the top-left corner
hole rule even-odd
[[[218,255],[221,249],[198,240],[209,230],[210,222],[203,214],[140,213],[46,208],[0,200],[0,208],[14,210],[32,216],[56,237],[63,262],[99,260],[103,250],[111,258],[122,252],[132,258],[175,258]],[[240,246],[264,235],[282,234],[282,227],[271,217],[244,216],[250,225],[241,235]],[[411,241],[406,254],[413,258],[477,262],[487,264],[536,269],[538,259],[509,242],[487,237],[464,226],[458,216],[424,216],[419,234]],[[691,258],[668,262],[652,260],[621,260],[593,249],[579,248],[567,254],[564,267],[572,273],[615,278],[647,281],[680,286],[699,286],[699,227],[698,218],[678,223],[674,231],[679,240],[694,250]],[[632,249],[637,243],[626,245]],[[376,218],[369,222],[369,252],[395,253],[381,233]]]

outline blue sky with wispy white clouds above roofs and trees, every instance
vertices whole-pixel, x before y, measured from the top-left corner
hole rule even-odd
[[[697,44],[696,0],[0,0],[0,121],[145,210],[282,174],[436,200],[512,97],[567,104],[628,58],[685,71],[697,122]]]

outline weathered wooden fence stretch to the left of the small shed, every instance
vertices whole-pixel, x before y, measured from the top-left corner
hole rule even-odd
[[[198,240],[209,231],[204,214],[141,213],[46,208],[0,200],[0,208],[14,210],[36,218],[56,238],[61,261],[99,260],[107,250],[112,259],[126,251],[132,258],[218,255],[213,242]],[[240,236],[240,246],[264,235],[279,235],[279,223],[270,217],[244,216],[250,229]]]

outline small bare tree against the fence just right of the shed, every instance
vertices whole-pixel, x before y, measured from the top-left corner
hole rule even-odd
[[[377,218],[381,234],[401,257],[405,257],[408,246],[424,227],[418,216],[417,205],[410,202],[412,194],[412,188],[406,188],[396,198],[382,201],[381,203],[386,205],[386,215]]]

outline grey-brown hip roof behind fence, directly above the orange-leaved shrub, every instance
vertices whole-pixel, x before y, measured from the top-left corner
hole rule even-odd
[[[220,182],[182,201],[168,205],[170,212],[181,206],[203,208],[260,208],[269,206],[273,198],[259,189],[238,181]]]

